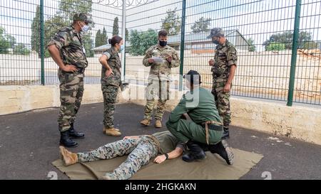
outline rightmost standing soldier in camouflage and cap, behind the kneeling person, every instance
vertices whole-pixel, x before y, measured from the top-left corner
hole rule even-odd
[[[214,60],[208,63],[212,66],[213,90],[216,106],[220,117],[223,118],[224,132],[222,139],[230,137],[228,126],[230,125],[230,90],[235,75],[238,56],[234,46],[224,37],[221,28],[213,28],[210,36],[217,45]]]

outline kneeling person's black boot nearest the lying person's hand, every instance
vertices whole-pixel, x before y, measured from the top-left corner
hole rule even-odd
[[[203,160],[206,157],[203,149],[198,144],[195,144],[195,142],[188,141],[186,145],[190,151],[182,156],[183,161],[193,162],[197,160]]]

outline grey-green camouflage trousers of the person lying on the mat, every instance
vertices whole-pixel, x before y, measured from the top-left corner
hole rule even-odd
[[[123,139],[111,144],[106,144],[93,151],[77,153],[77,156],[79,162],[89,162],[128,155],[126,161],[121,163],[118,168],[105,175],[111,180],[127,180],[131,178],[141,166],[147,165],[157,154],[158,146],[156,142],[148,136],[141,136],[138,139]]]

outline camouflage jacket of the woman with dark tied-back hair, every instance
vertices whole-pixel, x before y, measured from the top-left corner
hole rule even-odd
[[[103,68],[101,68],[101,84],[120,86],[121,85],[121,58],[119,58],[118,51],[115,50],[115,48],[112,46],[111,48],[106,50],[106,52],[103,53],[103,55],[110,56],[107,62],[108,62],[108,65],[111,67],[111,70],[113,70],[113,75],[106,77],[105,73],[107,69],[103,66]]]

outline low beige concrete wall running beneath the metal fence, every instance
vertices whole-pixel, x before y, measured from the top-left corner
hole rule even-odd
[[[119,95],[118,102],[145,105],[145,87],[131,85]],[[183,92],[171,91],[168,111],[178,104]],[[0,115],[59,106],[57,85],[1,86]],[[86,85],[83,104],[103,102],[101,85]],[[285,104],[250,99],[231,99],[233,125],[270,134],[289,136],[321,145],[321,109],[287,107]],[[143,112],[141,112],[143,115]],[[142,116],[143,117],[143,116]]]

